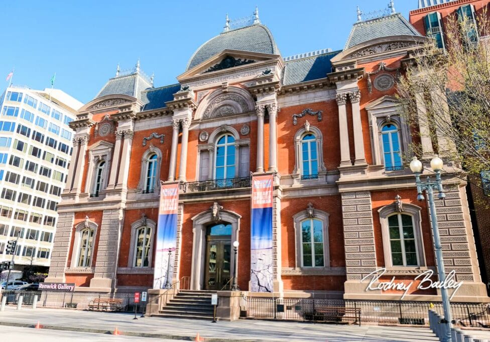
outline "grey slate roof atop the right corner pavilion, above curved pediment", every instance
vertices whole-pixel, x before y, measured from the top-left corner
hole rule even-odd
[[[421,36],[400,13],[355,23],[344,50],[376,38]]]

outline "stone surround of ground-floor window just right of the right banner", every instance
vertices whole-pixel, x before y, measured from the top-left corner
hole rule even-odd
[[[328,241],[328,217],[329,213],[313,209],[313,216],[309,217],[308,210],[300,211],[293,215],[294,220],[294,236],[295,236],[295,260],[296,260],[296,270],[301,270],[301,272],[307,274],[309,271],[317,270],[317,271],[328,271],[330,269],[330,249],[329,249],[329,241]],[[318,219],[322,221],[323,224],[323,267],[303,267],[302,255],[303,255],[303,246],[301,243],[301,222],[307,219]]]

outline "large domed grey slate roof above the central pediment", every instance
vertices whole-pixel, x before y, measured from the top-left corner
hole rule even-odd
[[[272,55],[280,54],[269,29],[264,25],[256,24],[223,32],[211,38],[192,55],[186,71],[226,49]]]

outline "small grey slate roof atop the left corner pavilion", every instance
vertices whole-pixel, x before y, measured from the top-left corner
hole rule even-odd
[[[151,88],[153,88],[153,85],[150,80],[140,72],[135,72],[130,75],[116,76],[109,79],[95,96],[95,99],[105,95],[123,94],[142,100],[142,91]]]

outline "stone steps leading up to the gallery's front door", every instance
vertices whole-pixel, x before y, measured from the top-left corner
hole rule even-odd
[[[216,291],[180,290],[158,313],[164,317],[213,318],[211,294]]]

